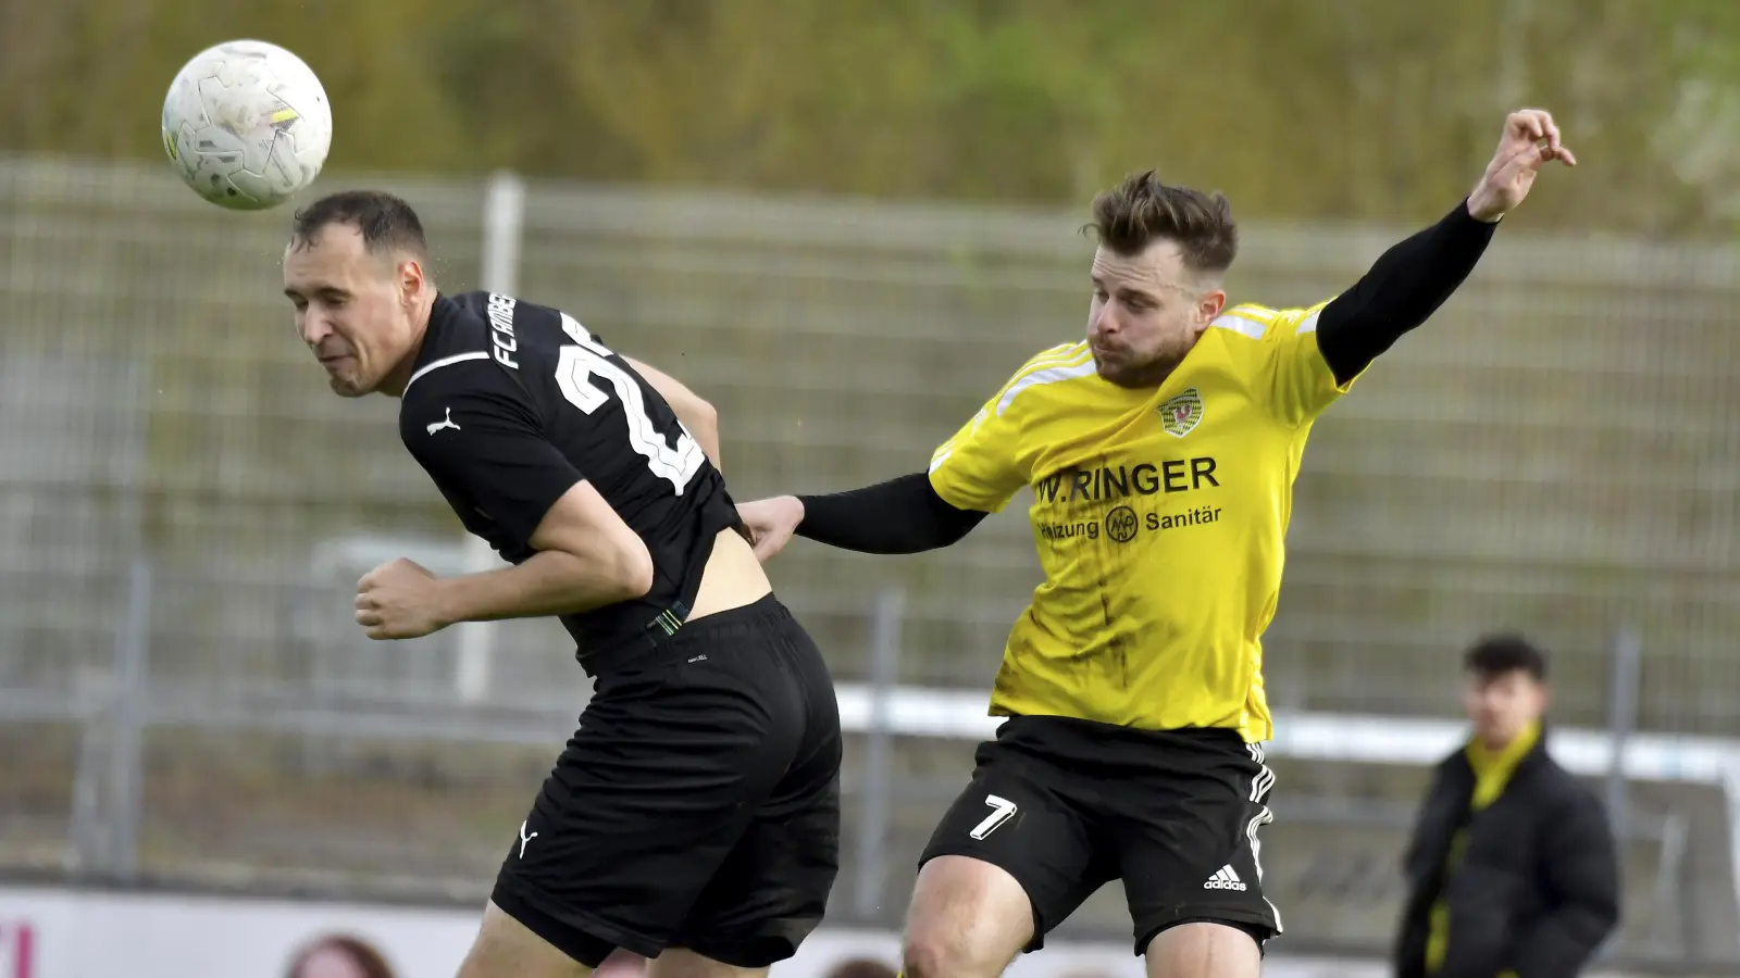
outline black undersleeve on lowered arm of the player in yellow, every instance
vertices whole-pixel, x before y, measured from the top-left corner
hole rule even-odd
[[[799,536],[860,553],[919,553],[948,546],[990,515],[945,503],[926,472],[799,499],[804,501]]]

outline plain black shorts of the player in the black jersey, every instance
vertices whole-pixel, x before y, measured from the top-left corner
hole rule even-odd
[[[597,679],[491,900],[581,964],[790,957],[839,872],[840,715],[773,595]]]

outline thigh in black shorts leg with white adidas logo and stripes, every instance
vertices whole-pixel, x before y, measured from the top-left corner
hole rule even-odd
[[[1260,952],[1281,933],[1281,917],[1263,896],[1258,841],[1258,828],[1270,821],[1272,783],[1260,748],[1234,743],[1192,750],[1162,776],[1131,778],[1114,795],[1108,841],[1117,849],[1136,954],[1169,948],[1168,959],[1183,961],[1208,947],[1204,941]],[[1169,936],[1183,924],[1208,929],[1190,926]]]

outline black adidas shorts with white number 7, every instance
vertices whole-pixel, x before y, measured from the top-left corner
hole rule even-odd
[[[1011,717],[978,748],[973,783],[924,849],[1013,875],[1034,940],[1096,889],[1124,881],[1136,954],[1174,924],[1230,924],[1258,947],[1281,933],[1263,900],[1258,827],[1274,774],[1228,729],[1138,731],[1067,717]]]

